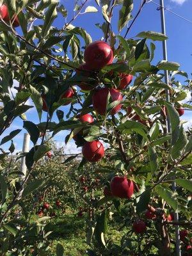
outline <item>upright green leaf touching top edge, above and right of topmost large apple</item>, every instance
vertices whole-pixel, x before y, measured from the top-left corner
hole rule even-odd
[[[118,18],[118,31],[121,31],[127,24],[127,22],[131,19],[131,12],[133,9],[132,0],[124,0],[122,9],[119,11]]]

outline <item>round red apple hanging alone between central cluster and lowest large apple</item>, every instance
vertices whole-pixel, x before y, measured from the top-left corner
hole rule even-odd
[[[99,140],[86,142],[82,148],[82,154],[87,161],[92,163],[99,161],[104,157],[104,147]]]

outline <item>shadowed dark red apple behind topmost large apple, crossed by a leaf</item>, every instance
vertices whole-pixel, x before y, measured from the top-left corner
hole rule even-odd
[[[85,71],[80,71],[80,70],[76,70],[77,74],[81,75],[81,76],[84,76],[84,77],[92,77],[92,69],[90,68],[90,65],[84,63],[84,64],[81,64],[79,66],[79,69],[80,70],[85,70]],[[89,72],[90,71],[90,72]],[[78,84],[78,86],[81,88],[81,90],[84,90],[84,91],[90,91],[92,90],[95,86],[97,86],[97,82],[93,83],[89,83],[88,81],[83,81],[81,82],[80,84]]]

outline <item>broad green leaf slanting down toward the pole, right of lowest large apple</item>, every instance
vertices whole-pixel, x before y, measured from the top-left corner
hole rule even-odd
[[[177,193],[173,193],[168,188],[163,188],[163,186],[156,186],[156,193],[163,198],[167,204],[169,204],[175,211],[178,211],[179,205],[177,200]]]

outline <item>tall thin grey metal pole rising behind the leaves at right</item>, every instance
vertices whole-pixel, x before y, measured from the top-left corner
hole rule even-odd
[[[164,35],[166,35],[166,31],[165,31],[165,20],[164,20],[164,1],[163,0],[159,0],[160,1],[160,6],[161,6],[161,31]],[[166,50],[166,40],[163,41],[163,59],[165,61],[167,61],[167,50]],[[166,84],[169,85],[169,79],[168,79],[168,70],[164,71],[164,81]],[[166,90],[166,100],[168,102],[170,102],[170,92],[169,90]],[[167,131],[170,132],[171,131],[171,125],[170,125],[170,118],[167,116],[166,118],[166,122],[167,122]],[[172,189],[173,191],[176,191],[177,186],[175,182],[172,182]],[[174,220],[175,221],[179,221],[179,214],[178,212],[174,213]],[[180,235],[179,235],[179,226],[175,226],[175,239],[176,239],[176,255],[177,256],[181,256],[181,251],[180,251]]]

